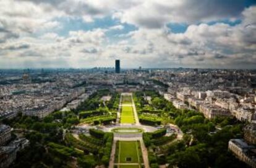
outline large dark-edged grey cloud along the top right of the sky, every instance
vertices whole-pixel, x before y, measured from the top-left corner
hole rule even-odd
[[[168,22],[198,23],[237,18],[243,10],[244,2],[240,0],[140,1],[136,6],[118,11],[115,16],[138,27],[160,28]]]

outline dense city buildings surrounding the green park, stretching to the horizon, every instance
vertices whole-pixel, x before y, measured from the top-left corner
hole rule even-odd
[[[116,69],[0,72],[0,118],[14,117],[19,112],[43,118],[53,111],[75,109],[96,90],[108,89],[117,92],[153,90],[175,107],[194,109],[207,119],[236,117],[242,122],[256,123],[254,71],[141,68],[121,71],[120,61],[115,63]],[[147,96],[144,98],[151,102]],[[109,97],[102,100],[108,101]],[[254,157],[239,155],[236,149],[244,145],[253,154],[255,130],[248,126],[244,140],[230,141],[230,150],[249,165]],[[242,153],[246,153],[245,148],[241,149]]]

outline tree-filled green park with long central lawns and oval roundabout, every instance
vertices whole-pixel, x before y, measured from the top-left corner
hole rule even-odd
[[[102,99],[107,95],[111,98]],[[145,99],[149,96],[151,101]],[[20,165],[30,160],[30,165],[55,167],[197,167],[210,164],[197,158],[218,158],[219,151],[236,162],[221,142],[241,135],[235,120],[208,120],[200,112],[177,109],[155,91],[99,90],[72,111],[56,111],[43,120],[18,115],[7,122],[17,131],[29,130],[31,145],[17,157]]]

